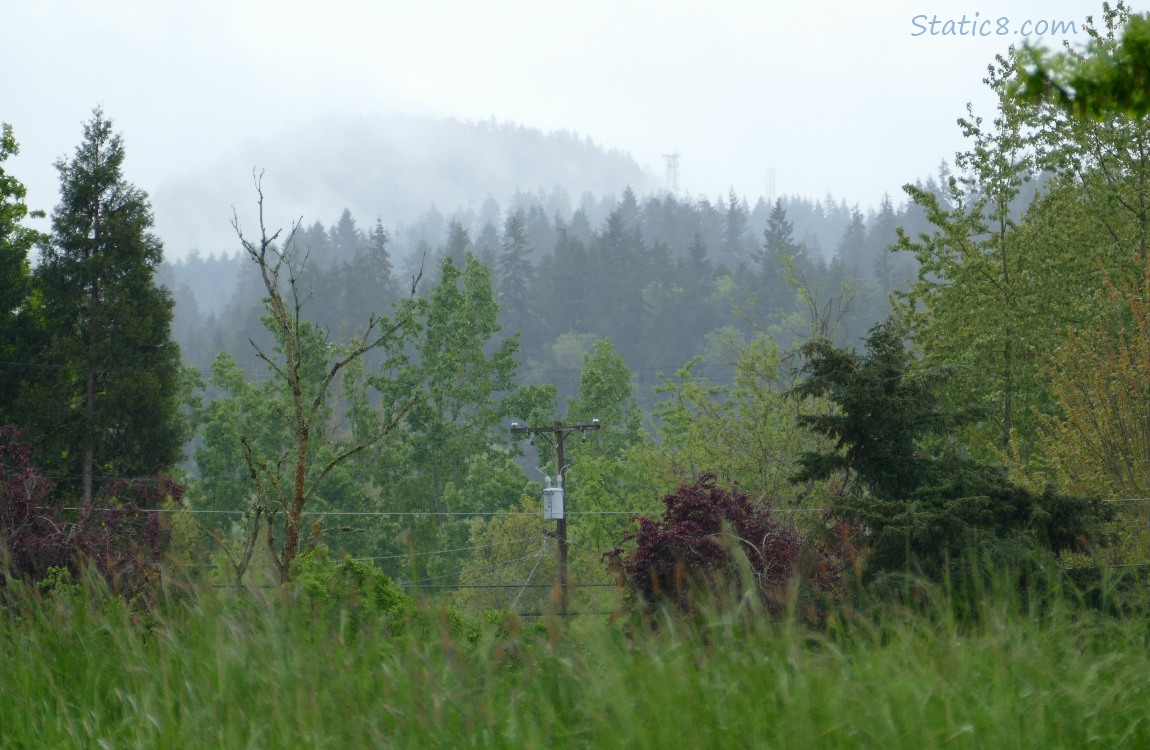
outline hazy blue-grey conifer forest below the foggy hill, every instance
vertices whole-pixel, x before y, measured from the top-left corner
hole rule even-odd
[[[945,182],[946,175],[941,175]],[[934,178],[920,185],[942,196]],[[397,230],[367,228],[344,211],[324,227],[300,227],[307,250],[306,314],[335,337],[354,334],[368,312],[388,312],[422,268],[431,288],[445,255],[467,253],[492,268],[504,335],[519,335],[524,382],[574,392],[583,355],[608,338],[650,403],[658,374],[703,355],[699,374],[724,381],[723,342],[770,332],[785,350],[812,326],[858,340],[905,289],[914,259],[894,253],[897,228],[929,224],[913,204],[884,198],[864,213],[830,196],[784,197],[754,205],[729,193],[714,201],[657,193],[639,199],[520,193],[506,211],[488,199],[451,217],[431,208]],[[261,293],[239,255],[192,253],[161,273],[176,299],[174,336],[187,363],[209,369],[221,351],[260,372],[250,339],[263,340]],[[734,338],[731,338],[734,337]]]

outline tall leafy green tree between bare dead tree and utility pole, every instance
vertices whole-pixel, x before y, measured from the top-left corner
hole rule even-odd
[[[404,529],[421,553],[411,558],[412,580],[429,574],[423,553],[467,542],[466,523],[427,513],[500,510],[460,507],[460,500],[470,500],[458,490],[467,485],[473,459],[505,450],[499,430],[505,420],[554,412],[554,389],[515,384],[518,339],[496,343],[499,306],[491,269],[470,253],[462,268],[447,255],[438,277],[430,298],[420,300],[421,330],[411,359],[400,358],[386,377],[373,380],[384,401],[412,399],[401,426],[404,460],[376,473],[388,507],[415,513]]]

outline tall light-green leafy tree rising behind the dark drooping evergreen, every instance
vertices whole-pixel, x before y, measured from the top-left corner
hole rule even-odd
[[[1058,304],[1048,294],[1051,276],[1070,271],[1065,263],[1044,268],[1040,243],[1018,230],[1017,201],[1036,164],[1033,117],[1006,95],[1010,75],[1011,62],[999,58],[984,79],[998,97],[991,122],[969,105],[959,120],[969,148],[957,155],[945,194],[905,186],[934,230],[914,239],[899,230],[897,246],[919,266],[917,282],[897,294],[914,342],[927,363],[952,368],[941,398],[982,408],[972,429],[980,451],[1015,447],[1019,422],[1023,442],[1033,436],[1033,410],[1049,398],[1035,351],[1059,332],[1049,324]]]

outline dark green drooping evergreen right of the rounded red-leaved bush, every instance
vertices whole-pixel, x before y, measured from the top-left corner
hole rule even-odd
[[[964,415],[935,396],[943,373],[915,372],[895,321],[876,327],[866,345],[865,354],[827,342],[803,349],[808,377],[793,392],[825,397],[837,412],[802,421],[834,438],[836,450],[804,454],[795,479],[853,477],[835,511],[865,530],[872,575],[907,566],[940,575],[972,548],[1017,541],[1058,552],[1095,536],[1103,516],[1096,498],[1052,487],[1033,492],[950,439]]]

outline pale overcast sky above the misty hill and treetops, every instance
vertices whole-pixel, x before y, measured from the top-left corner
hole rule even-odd
[[[1074,22],[1076,35],[1032,39],[1082,44],[1084,17],[1101,9],[1078,0],[0,0],[0,121],[22,148],[8,169],[45,209],[56,201],[52,163],[71,154],[97,105],[124,136],[128,178],[153,197],[223,154],[238,163],[221,168],[248,174],[244,144],[300,123],[414,114],[575,130],[658,175],[662,154],[678,153],[680,185],[692,194],[733,186],[753,201],[773,169],[781,194],[829,191],[866,208],[884,192],[900,201],[903,183],[961,147],[954,120],[967,101],[989,114],[981,79],[1017,32]],[[964,15],[980,25],[944,33]],[[168,252],[182,253],[164,237],[174,208],[155,211]]]

